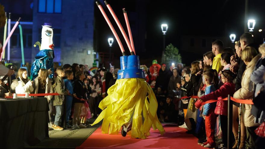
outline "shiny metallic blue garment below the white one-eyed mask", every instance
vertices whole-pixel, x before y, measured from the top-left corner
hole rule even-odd
[[[38,76],[39,70],[41,68],[51,69],[52,73],[49,75],[49,78],[53,77],[54,67],[53,67],[53,50],[41,50],[35,57],[35,61],[31,66],[31,76],[35,79]]]

